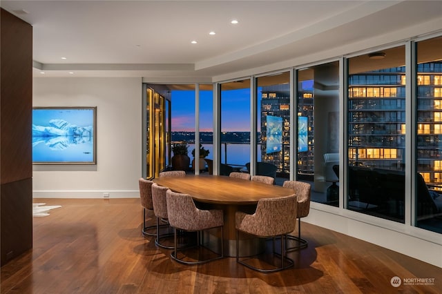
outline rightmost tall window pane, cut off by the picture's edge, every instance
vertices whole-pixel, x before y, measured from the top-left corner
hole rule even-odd
[[[442,37],[416,45],[416,226],[442,233]]]

